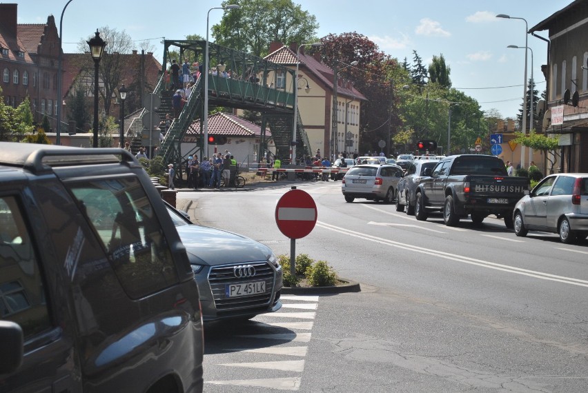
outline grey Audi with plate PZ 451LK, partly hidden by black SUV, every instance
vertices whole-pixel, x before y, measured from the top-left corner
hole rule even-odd
[[[282,308],[282,267],[271,248],[197,225],[166,203],[198,284],[205,322],[251,319]]]

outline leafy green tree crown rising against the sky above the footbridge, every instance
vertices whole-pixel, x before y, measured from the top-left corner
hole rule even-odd
[[[239,9],[224,12],[213,26],[215,42],[259,57],[268,54],[273,41],[309,42],[319,27],[316,17],[292,0],[231,0],[222,6],[238,4]]]

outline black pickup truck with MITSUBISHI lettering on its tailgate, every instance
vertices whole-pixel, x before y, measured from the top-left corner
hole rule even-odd
[[[427,220],[429,212],[441,211],[445,225],[455,226],[471,216],[481,224],[490,214],[513,228],[513,208],[529,193],[527,177],[509,177],[504,162],[484,154],[445,157],[424,172],[415,192],[415,216]]]

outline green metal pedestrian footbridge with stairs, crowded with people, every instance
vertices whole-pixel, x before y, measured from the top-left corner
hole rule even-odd
[[[179,51],[179,59],[190,54],[190,58],[199,59],[204,63],[206,52],[206,41],[191,40],[165,40],[164,61],[161,78],[159,79],[153,94],[161,99],[161,105],[157,108],[163,118],[166,113],[173,113],[171,110],[171,97],[175,92],[167,77],[166,63],[168,62],[170,50]],[[189,51],[189,52],[188,52]],[[191,52],[191,53],[190,53]],[[280,81],[287,80],[286,74],[291,76],[295,70],[291,70],[281,64],[266,61],[261,57],[253,56],[239,50],[225,48],[215,43],[208,43],[209,66],[215,72],[202,72],[193,86],[192,94],[179,117],[173,121],[170,129],[164,137],[159,148],[159,156],[164,162],[183,162],[182,139],[190,124],[195,119],[204,117],[204,78],[208,78],[208,107],[222,106],[225,108],[239,108],[261,112],[262,114],[262,135],[257,157],[262,157],[267,148],[266,128],[271,129],[273,141],[277,154],[280,157],[289,157],[294,117],[294,86],[285,88],[274,88],[281,85]],[[195,55],[195,56],[194,56]],[[220,71],[225,71],[226,74]],[[292,77],[289,78],[293,80]],[[148,109],[144,109],[147,111]],[[308,137],[300,120],[300,112],[297,112],[296,128],[296,149],[297,159],[305,154],[311,155]],[[146,119],[148,117],[143,117]],[[144,128],[146,125],[140,121],[135,122],[135,130]],[[203,145],[202,122],[200,130],[199,149]],[[140,130],[139,130],[140,132]],[[197,151],[196,154],[207,155],[206,152]]]

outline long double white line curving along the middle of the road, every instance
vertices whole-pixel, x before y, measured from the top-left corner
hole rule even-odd
[[[534,277],[536,279],[549,280],[549,281],[557,281],[557,282],[560,282],[560,283],[566,283],[566,284],[571,284],[571,285],[579,285],[579,286],[587,287],[588,288],[588,281],[586,281],[586,280],[573,279],[571,277],[558,276],[556,274],[549,274],[549,273],[537,272],[535,270],[527,270],[527,269],[522,269],[522,268],[516,268],[514,266],[502,265],[500,263],[493,263],[493,262],[489,262],[489,261],[483,261],[482,259],[471,258],[469,256],[462,256],[462,255],[458,255],[458,254],[451,254],[450,252],[443,252],[443,251],[438,251],[438,250],[432,250],[432,249],[429,249],[429,248],[418,247],[416,245],[409,245],[409,244],[405,244],[405,243],[400,243],[398,241],[393,241],[393,240],[389,240],[389,239],[383,239],[381,237],[372,236],[370,234],[357,233],[355,231],[346,230],[344,228],[340,228],[340,227],[338,227],[336,225],[331,225],[331,224],[328,224],[328,223],[324,223],[322,221],[317,221],[317,224],[316,225],[319,226],[320,228],[324,228],[326,230],[331,230],[333,232],[339,232],[341,234],[346,234],[348,236],[357,237],[358,239],[362,239],[363,241],[369,240],[369,241],[373,241],[375,243],[380,243],[380,244],[383,244],[383,245],[390,245],[390,246],[395,247],[395,248],[402,248],[403,250],[408,250],[408,251],[411,251],[411,252],[418,252],[420,254],[427,254],[427,255],[431,255],[431,256],[437,256],[438,258],[448,259],[450,261],[456,261],[456,262],[460,262],[460,263],[467,263],[469,265],[476,265],[476,266],[480,266],[482,268],[500,270],[502,272],[509,272],[509,273],[514,273],[514,274],[521,274],[521,275],[524,275],[524,276]]]

